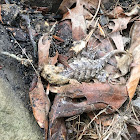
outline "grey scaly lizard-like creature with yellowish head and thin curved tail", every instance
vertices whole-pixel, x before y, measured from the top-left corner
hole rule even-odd
[[[70,79],[76,79],[78,82],[90,81],[103,70],[112,56],[119,53],[126,52],[113,50],[111,52],[108,52],[105,56],[95,60],[86,57],[81,57],[81,59],[74,59],[73,62],[69,63],[70,67],[67,67],[66,69],[60,68],[61,70],[59,71],[58,67],[53,66],[52,69],[50,69],[51,66],[48,67],[46,65],[42,71],[42,76],[51,84],[66,84],[70,81]],[[47,67],[50,70],[48,70]],[[55,79],[55,82],[52,78]]]

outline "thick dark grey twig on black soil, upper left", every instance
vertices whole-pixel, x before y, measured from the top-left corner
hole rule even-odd
[[[33,48],[34,48],[34,57],[36,57],[37,45],[36,45],[36,42],[34,41],[34,37],[33,37],[33,34],[32,34],[32,27],[31,27],[31,24],[30,24],[31,21],[30,21],[29,15],[22,14],[21,16],[26,21],[28,32],[29,32],[29,37],[30,37],[31,43],[32,43]]]

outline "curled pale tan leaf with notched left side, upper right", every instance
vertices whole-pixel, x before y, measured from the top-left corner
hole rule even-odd
[[[112,32],[121,31],[127,28],[131,17],[119,17],[118,19],[112,19],[115,25],[109,25],[109,29],[112,29]]]

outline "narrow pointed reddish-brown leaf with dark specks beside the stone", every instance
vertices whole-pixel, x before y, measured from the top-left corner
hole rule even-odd
[[[45,127],[46,122],[46,108],[49,110],[50,101],[45,95],[44,87],[41,79],[38,78],[36,87],[29,92],[30,102],[32,104],[33,114],[41,128]],[[48,113],[48,112],[47,112]]]

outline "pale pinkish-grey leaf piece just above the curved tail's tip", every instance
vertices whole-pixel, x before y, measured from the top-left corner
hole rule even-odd
[[[124,51],[124,43],[122,35],[120,35],[120,32],[114,32],[110,34],[110,37],[113,39],[115,46],[118,50]]]

